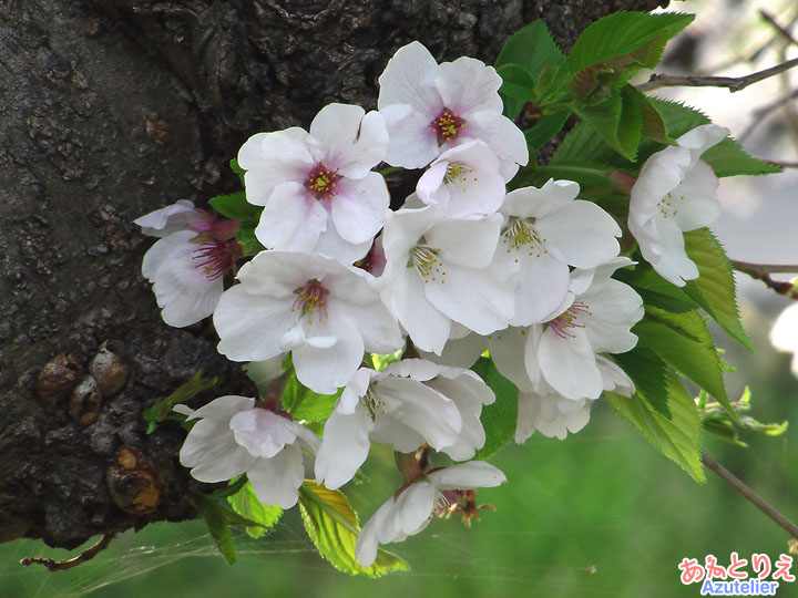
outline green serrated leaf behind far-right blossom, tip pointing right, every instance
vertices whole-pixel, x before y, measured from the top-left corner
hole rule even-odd
[[[662,114],[672,138],[679,137],[696,126],[708,124],[712,121],[700,111],[678,102],[668,102],[658,97],[651,97],[652,105]],[[649,151],[656,151],[648,147]],[[646,156],[647,157],[647,156]],[[718,177],[735,175],[763,175],[780,173],[781,168],[761,159],[751,157],[743,146],[732,137],[726,137],[715,147],[710,147],[702,155]]]

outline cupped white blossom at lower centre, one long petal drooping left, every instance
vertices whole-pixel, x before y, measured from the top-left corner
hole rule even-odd
[[[469,370],[406,359],[382,371],[358,370],[327,420],[316,480],[347,483],[368,456],[371,441],[411,453],[424,442],[464,461],[484,445],[479,416],[495,400]]]

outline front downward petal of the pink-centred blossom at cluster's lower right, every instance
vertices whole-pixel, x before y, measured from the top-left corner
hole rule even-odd
[[[566,329],[562,338],[548,328],[538,346],[545,381],[566,399],[597,399],[604,389],[595,353],[581,329]]]

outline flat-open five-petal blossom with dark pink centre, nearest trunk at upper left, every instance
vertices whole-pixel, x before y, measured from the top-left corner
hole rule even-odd
[[[390,197],[371,172],[388,145],[382,116],[328,104],[310,123],[252,136],[238,152],[246,196],[264,206],[255,229],[268,249],[362,258],[382,227]]]

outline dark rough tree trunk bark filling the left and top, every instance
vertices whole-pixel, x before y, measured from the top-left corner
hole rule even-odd
[[[411,40],[492,63],[534,19],[567,49],[600,17],[658,3],[0,0],[0,542],[71,548],[196,516],[184,432],[146,435],[142,410],[200,368],[219,384],[197,402],[254,392],[209,323],[161,321],[134,218],[235,188],[227,161],[256,132],[307,127],[329,102],[374,109]]]

